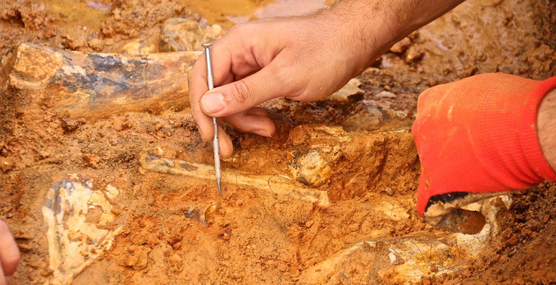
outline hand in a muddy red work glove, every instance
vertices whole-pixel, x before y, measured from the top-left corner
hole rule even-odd
[[[477,233],[484,216],[460,207],[556,181],[537,134],[539,104],[554,88],[556,77],[489,73],[423,92],[411,130],[421,161],[418,213],[434,227]]]

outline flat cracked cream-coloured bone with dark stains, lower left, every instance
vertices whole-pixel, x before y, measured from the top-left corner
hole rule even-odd
[[[116,214],[109,201],[120,191],[108,184],[93,190],[92,182],[72,174],[52,184],[42,207],[48,225],[49,267],[53,271],[44,284],[67,285],[103,252],[110,250],[120,227],[107,226]]]

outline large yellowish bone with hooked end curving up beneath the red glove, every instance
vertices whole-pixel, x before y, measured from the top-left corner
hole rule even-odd
[[[420,231],[391,238],[364,238],[300,275],[301,284],[422,284],[423,277],[458,272],[474,264],[499,238],[512,199],[508,195],[465,207],[487,220],[478,234]],[[367,273],[363,273],[367,272]],[[361,274],[363,273],[363,274]]]

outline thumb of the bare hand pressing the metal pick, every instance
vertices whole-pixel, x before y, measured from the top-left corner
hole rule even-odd
[[[285,74],[284,69],[271,62],[239,81],[211,89],[201,98],[201,107],[211,117],[225,117],[247,111],[270,99],[289,96],[288,86],[295,84],[286,84],[282,74]]]

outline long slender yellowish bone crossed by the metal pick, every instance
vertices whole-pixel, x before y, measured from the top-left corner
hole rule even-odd
[[[141,171],[151,171],[173,175],[184,175],[215,181],[214,166],[208,164],[163,158],[156,154],[141,158]],[[216,183],[216,181],[215,181]],[[283,175],[264,175],[222,168],[222,185],[224,187],[249,187],[262,193],[272,193],[315,203],[317,207],[330,206],[328,193],[317,191],[297,184],[293,179]]]

